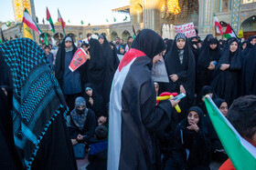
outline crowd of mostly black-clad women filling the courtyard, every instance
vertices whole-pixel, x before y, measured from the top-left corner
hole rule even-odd
[[[255,44],[256,35],[243,42],[184,34],[163,40],[149,29],[126,44],[105,35],[80,45],[70,36],[56,46],[6,42],[0,45],[3,167],[76,169],[74,146],[82,144],[87,169],[219,168],[229,157],[205,97],[228,116],[234,100],[256,95]],[[78,47],[87,61],[72,72]],[[152,81],[152,67],[162,60],[169,83]],[[164,92],[186,97],[156,104]]]

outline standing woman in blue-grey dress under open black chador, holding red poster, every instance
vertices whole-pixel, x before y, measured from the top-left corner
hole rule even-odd
[[[56,55],[55,75],[65,95],[69,110],[74,108],[75,98],[82,95],[83,86],[85,85],[85,65],[81,65],[74,72],[69,69],[69,65],[77,49],[72,38],[66,36]]]

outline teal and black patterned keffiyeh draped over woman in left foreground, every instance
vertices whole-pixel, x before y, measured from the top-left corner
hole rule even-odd
[[[13,78],[13,133],[17,153],[30,169],[48,126],[66,114],[64,96],[44,51],[31,39],[0,45]]]

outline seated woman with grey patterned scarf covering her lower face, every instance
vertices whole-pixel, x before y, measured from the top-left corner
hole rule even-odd
[[[95,115],[91,109],[86,107],[84,98],[76,98],[75,108],[70,113],[69,121],[69,135],[72,144],[90,142],[96,126]]]

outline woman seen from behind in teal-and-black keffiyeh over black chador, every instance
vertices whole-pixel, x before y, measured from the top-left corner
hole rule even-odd
[[[0,57],[9,67],[13,91],[11,123],[1,125],[13,125],[9,137],[15,139],[23,168],[77,169],[65,120],[67,106],[43,50],[31,39],[19,38],[0,45]]]

